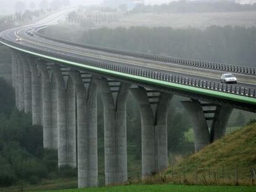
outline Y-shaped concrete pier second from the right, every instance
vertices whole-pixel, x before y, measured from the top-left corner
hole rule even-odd
[[[139,104],[142,122],[142,176],[168,167],[167,117],[173,95],[161,93],[154,114],[145,88],[131,89]]]

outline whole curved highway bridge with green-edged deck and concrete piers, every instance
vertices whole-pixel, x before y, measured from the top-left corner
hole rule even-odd
[[[194,127],[195,151],[224,135],[234,108],[256,112],[255,68],[84,45],[41,34],[64,14],[1,31],[0,43],[12,52],[16,106],[32,113],[33,124],[43,126],[43,145],[58,149],[59,167],[78,167],[80,188],[98,186],[97,91],[104,105],[106,185],[127,181],[129,91],[142,122],[142,177],[168,167],[167,117],[174,95],[187,98],[182,104]],[[33,36],[26,33],[28,28]],[[236,75],[236,85],[220,82],[226,72]]]

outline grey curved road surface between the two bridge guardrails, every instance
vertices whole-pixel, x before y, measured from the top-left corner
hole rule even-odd
[[[19,43],[24,46],[29,46],[36,49],[47,50],[49,52],[62,53],[69,56],[78,56],[86,59],[92,59],[94,61],[103,61],[116,65],[126,65],[135,67],[137,69],[153,70],[156,72],[164,72],[174,75],[180,75],[187,78],[197,78],[204,81],[211,81],[220,83],[220,76],[222,73],[226,73],[220,70],[202,69],[198,67],[191,67],[179,64],[170,64],[167,62],[151,61],[147,59],[139,59],[132,56],[124,56],[120,54],[112,54],[104,51],[97,51],[94,49],[82,48],[80,46],[74,46],[67,43],[61,43],[58,41],[49,40],[38,35],[30,36],[25,33],[27,28],[38,28],[43,25],[54,25],[58,23],[60,17],[67,14],[70,10],[64,10],[57,14],[51,15],[45,20],[37,22],[33,25],[27,25],[25,27],[12,28],[1,32],[1,37],[5,40],[12,41],[13,43]],[[21,38],[21,42],[16,42],[16,38]],[[234,73],[236,75],[238,83],[237,85],[243,86],[246,89],[256,89],[256,76],[244,75],[241,73]]]

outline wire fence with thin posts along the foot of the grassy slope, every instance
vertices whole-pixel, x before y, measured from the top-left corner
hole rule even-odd
[[[127,180],[111,182],[113,178],[98,177],[98,186],[124,184],[179,183],[185,185],[256,185],[256,165],[229,164],[211,167],[183,164],[171,165],[165,173],[143,176],[140,172],[128,172]]]

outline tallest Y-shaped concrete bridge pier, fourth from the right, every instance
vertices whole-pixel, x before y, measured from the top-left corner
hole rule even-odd
[[[80,73],[72,71],[77,95],[77,160],[79,188],[98,186],[97,100],[92,78],[88,93]]]

